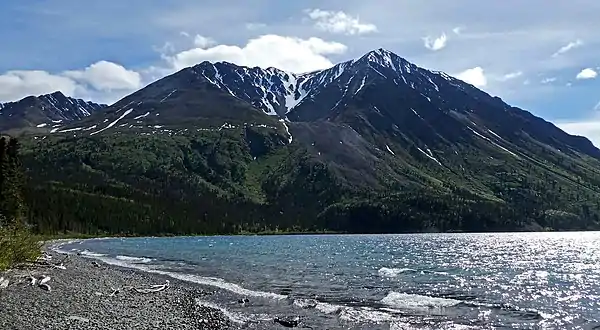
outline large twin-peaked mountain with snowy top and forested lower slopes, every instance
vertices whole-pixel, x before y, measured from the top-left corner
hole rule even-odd
[[[304,74],[203,62],[24,144],[48,228],[600,228],[589,140],[383,49]]]

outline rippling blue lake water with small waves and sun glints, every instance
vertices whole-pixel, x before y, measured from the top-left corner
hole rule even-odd
[[[315,328],[600,327],[600,233],[124,238],[66,244],[224,292],[244,327],[299,315]],[[237,304],[236,297],[250,303]]]

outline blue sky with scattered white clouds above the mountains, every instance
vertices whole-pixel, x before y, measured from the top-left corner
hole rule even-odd
[[[182,67],[290,71],[379,47],[600,145],[600,1],[2,0],[0,102],[113,102]]]

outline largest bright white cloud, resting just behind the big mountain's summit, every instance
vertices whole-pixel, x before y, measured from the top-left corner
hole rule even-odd
[[[244,66],[276,67],[292,72],[308,72],[333,66],[325,56],[342,54],[347,47],[320,38],[301,39],[263,35],[243,46],[216,45],[189,49],[166,59],[176,69],[203,61],[227,61]]]

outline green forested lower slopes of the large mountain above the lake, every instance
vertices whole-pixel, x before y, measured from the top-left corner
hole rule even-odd
[[[493,182],[481,173],[475,178],[488,189],[478,191],[453,177],[432,184],[422,179],[428,167],[411,167],[410,181],[373,189],[283,139],[268,129],[244,128],[30,140],[23,152],[25,216],[44,234],[598,228],[598,199],[591,198],[597,192],[545,180],[535,168]]]

